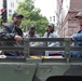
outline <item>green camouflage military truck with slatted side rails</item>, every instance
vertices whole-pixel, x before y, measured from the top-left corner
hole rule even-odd
[[[0,41],[4,41],[0,39]],[[10,41],[10,40],[9,40]],[[59,41],[57,48],[30,46],[30,42]],[[0,81],[66,81],[82,79],[82,58],[71,58],[70,51],[82,51],[82,48],[71,46],[70,38],[24,38],[24,46],[0,46],[1,51],[24,51],[23,57],[0,56]],[[30,51],[65,51],[65,57],[40,56],[30,57]]]

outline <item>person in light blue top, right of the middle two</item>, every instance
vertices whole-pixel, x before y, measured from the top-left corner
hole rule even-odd
[[[54,24],[49,24],[46,32],[44,33],[43,38],[58,38],[59,36],[57,32],[54,31]],[[47,46],[59,46],[59,42],[47,42]],[[54,53],[55,51],[45,51],[45,56],[49,54]]]

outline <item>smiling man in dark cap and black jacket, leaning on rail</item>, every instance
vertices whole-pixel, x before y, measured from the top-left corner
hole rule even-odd
[[[0,38],[9,40],[13,39],[14,42],[1,42],[2,45],[9,46],[20,46],[23,45],[23,31],[19,28],[22,19],[24,16],[18,13],[14,13],[12,16],[12,22],[5,23],[0,30]],[[4,55],[6,56],[20,56],[23,52],[19,51],[4,51]]]

